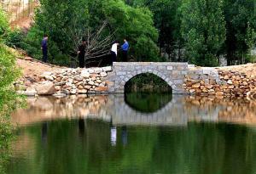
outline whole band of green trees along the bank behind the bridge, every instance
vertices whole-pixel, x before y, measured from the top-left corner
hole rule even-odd
[[[256,0],[41,0],[35,23],[27,33],[15,31],[9,45],[41,59],[40,42],[49,35],[49,61],[72,65],[73,30],[96,31],[108,26],[102,38],[112,36],[131,44],[131,61],[189,61],[216,66],[254,62]],[[105,48],[109,49],[109,48]],[[100,58],[108,59],[108,57]],[[96,61],[99,61],[96,59]]]

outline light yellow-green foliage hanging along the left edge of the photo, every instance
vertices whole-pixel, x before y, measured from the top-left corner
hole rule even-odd
[[[10,123],[10,113],[17,107],[17,94],[13,82],[19,76],[15,67],[15,55],[5,45],[5,38],[9,35],[9,23],[0,8],[0,172],[4,172],[4,165],[9,160],[10,142],[13,138],[13,126]]]

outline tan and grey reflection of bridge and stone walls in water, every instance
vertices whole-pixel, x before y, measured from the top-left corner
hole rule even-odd
[[[21,126],[60,119],[97,119],[111,122],[113,126],[186,126],[189,121],[256,123],[256,104],[246,99],[158,96],[149,100],[146,108],[152,107],[151,103],[154,102],[160,106],[159,109],[149,108],[149,112],[145,112],[145,108],[138,110],[142,109],[139,101],[134,101],[137,108],[132,106],[132,98],[127,102],[126,96],[125,102],[122,94],[27,98],[27,108],[18,109],[12,115],[12,121]]]

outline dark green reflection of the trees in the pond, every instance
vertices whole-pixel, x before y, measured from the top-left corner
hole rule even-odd
[[[40,124],[20,128],[8,173],[191,173],[253,174],[256,132],[246,126],[189,123],[183,127],[121,126],[87,120],[84,137],[77,121],[49,123],[42,148]],[[114,131],[113,140],[112,130]],[[29,147],[24,146],[28,141]],[[22,154],[22,155],[21,155]]]

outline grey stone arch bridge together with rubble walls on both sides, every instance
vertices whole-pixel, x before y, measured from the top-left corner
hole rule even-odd
[[[24,76],[15,83],[25,95],[124,93],[125,83],[134,76],[152,73],[166,81],[173,93],[216,96],[256,96],[256,77],[234,70],[195,67],[187,63],[117,62],[113,67],[70,69]]]

